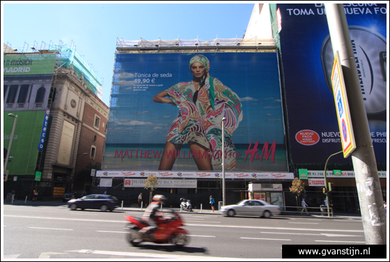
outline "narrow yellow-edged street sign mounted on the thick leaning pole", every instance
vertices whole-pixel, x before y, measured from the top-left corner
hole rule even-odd
[[[334,102],[336,104],[338,128],[340,129],[341,143],[343,144],[344,158],[348,157],[354,149],[354,133],[352,129],[350,106],[345,90],[344,76],[340,64],[338,51],[334,56],[334,64],[331,72],[331,85],[333,87]]]

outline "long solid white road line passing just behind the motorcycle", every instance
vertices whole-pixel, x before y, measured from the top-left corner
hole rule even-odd
[[[84,221],[84,222],[112,222],[112,223],[128,223],[126,220],[92,220],[81,218],[47,218],[47,217],[35,217],[27,215],[3,215],[3,217],[10,218],[37,218],[37,219],[49,219],[49,220],[69,220],[69,221]],[[343,229],[303,229],[303,228],[288,228],[288,227],[248,227],[248,226],[231,226],[227,224],[185,224],[186,227],[225,227],[225,228],[239,228],[239,229],[277,229],[277,230],[294,230],[294,231],[334,231],[334,232],[359,232],[364,233],[364,230],[343,230]]]

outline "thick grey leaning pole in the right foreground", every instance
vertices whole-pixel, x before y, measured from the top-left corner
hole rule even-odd
[[[382,190],[344,7],[342,3],[325,3],[325,9],[334,54],[336,51],[340,54],[356,141],[356,149],[351,156],[359,195],[364,237],[368,245],[386,245],[387,222]]]

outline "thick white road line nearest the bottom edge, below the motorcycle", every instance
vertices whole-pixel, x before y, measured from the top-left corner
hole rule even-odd
[[[233,260],[242,261],[242,258],[232,258],[232,257],[221,257],[221,256],[189,256],[189,255],[176,255],[176,254],[155,254],[155,253],[138,253],[138,252],[119,252],[119,251],[105,251],[105,250],[88,250],[88,249],[80,249],[80,250],[69,250],[67,252],[77,252],[84,254],[100,254],[100,255],[110,255],[110,256],[141,256],[148,258],[158,258],[158,259],[189,259],[191,261],[199,261],[201,259],[210,260]]]

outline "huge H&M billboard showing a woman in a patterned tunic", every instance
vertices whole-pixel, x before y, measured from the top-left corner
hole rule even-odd
[[[226,170],[288,171],[279,79],[275,52],[116,54],[103,170],[221,170],[225,117]]]

